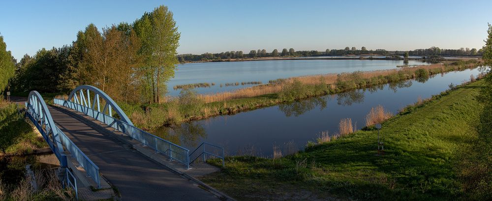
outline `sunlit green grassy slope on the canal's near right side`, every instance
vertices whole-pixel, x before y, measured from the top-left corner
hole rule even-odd
[[[481,106],[475,96],[482,83],[443,93],[384,122],[384,156],[375,156],[376,131],[358,131],[281,159],[230,157],[223,171],[202,179],[239,200],[302,192],[364,200],[463,197],[457,156],[477,139],[473,124]]]

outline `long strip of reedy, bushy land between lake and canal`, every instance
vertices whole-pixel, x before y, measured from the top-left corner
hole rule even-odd
[[[153,130],[163,125],[170,126],[217,115],[235,114],[282,102],[372,88],[408,79],[425,81],[435,74],[479,65],[479,61],[469,60],[391,70],[300,76],[212,95],[197,95],[192,90],[185,90],[183,96],[162,104],[119,104],[139,128]]]

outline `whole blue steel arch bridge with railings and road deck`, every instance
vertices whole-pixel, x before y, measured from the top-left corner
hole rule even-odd
[[[199,161],[217,157],[223,165],[221,147],[204,142],[189,150],[143,131],[111,97],[90,85],[53,101],[47,105],[31,91],[26,116],[59,160],[63,185],[77,198],[97,200],[116,192],[132,201],[232,200],[195,178],[218,169]]]

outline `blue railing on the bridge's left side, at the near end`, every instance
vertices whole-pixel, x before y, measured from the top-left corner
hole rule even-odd
[[[77,147],[68,136],[66,136],[58,127],[58,133],[60,134],[60,139],[62,139],[62,144],[70,152],[72,158],[74,158],[80,166],[84,167],[87,175],[92,177],[92,180],[97,184],[97,188],[101,187],[101,178],[99,175],[99,167],[97,167],[89,157],[87,157],[84,152],[82,152],[79,147]]]

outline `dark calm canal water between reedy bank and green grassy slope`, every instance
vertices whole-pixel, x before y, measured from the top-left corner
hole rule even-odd
[[[371,107],[379,104],[396,114],[420,97],[426,99],[478,75],[478,69],[438,74],[426,81],[408,80],[379,88],[355,90],[338,95],[280,104],[235,115],[217,116],[183,124],[180,129],[161,128],[151,132],[194,149],[202,141],[223,146],[226,154],[255,154],[269,157],[273,146],[283,153],[303,148],[323,131],[338,132],[338,122],[351,118],[357,129],[365,125]]]

